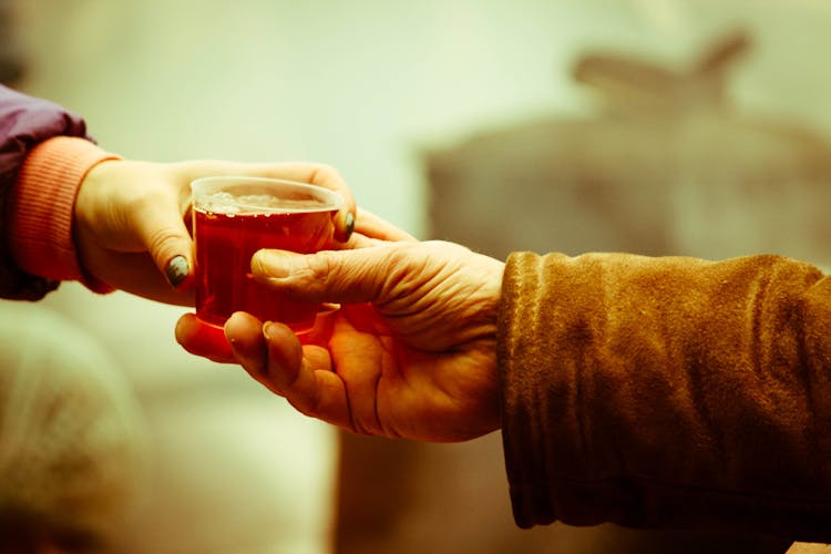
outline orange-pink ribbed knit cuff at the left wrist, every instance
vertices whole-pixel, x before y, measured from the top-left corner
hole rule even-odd
[[[10,195],[10,247],[21,269],[54,280],[79,280],[96,293],[113,290],[84,274],[72,222],[86,173],[95,164],[119,158],[72,136],[55,136],[32,148]]]

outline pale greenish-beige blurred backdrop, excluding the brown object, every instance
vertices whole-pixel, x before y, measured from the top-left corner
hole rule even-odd
[[[593,113],[594,96],[567,71],[584,48],[684,65],[714,34],[741,24],[758,43],[729,83],[737,109],[831,130],[823,0],[9,3],[29,57],[21,88],[83,114],[104,147],[154,161],[330,163],[360,205],[419,236],[430,228],[422,153],[515,122]],[[697,226],[700,203],[680,198],[678,228],[695,238],[690,254],[704,255],[693,250],[712,227]],[[741,233],[730,209],[742,202],[720,204],[722,233]],[[767,205],[798,203],[788,202]],[[155,486],[122,552],[330,551],[331,429],[240,371],[181,351],[173,325],[182,309],[71,284],[40,308],[102,341],[152,423]]]

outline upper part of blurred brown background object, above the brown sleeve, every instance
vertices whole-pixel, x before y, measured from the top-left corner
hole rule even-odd
[[[750,45],[745,33],[730,33],[680,70],[623,54],[583,55],[573,74],[599,96],[596,114],[488,130],[428,154],[431,236],[499,258],[515,249],[828,254],[824,218],[813,217],[821,227],[801,234],[791,252],[782,235],[774,244],[758,236],[759,225],[771,224],[792,236],[809,224],[800,209],[810,212],[818,199],[828,205],[831,144],[812,130],[733,106],[729,70]],[[761,204],[781,211],[778,199],[794,188],[803,205],[788,206],[789,229]],[[724,220],[729,215],[732,223]],[[727,244],[712,237],[714,227]],[[742,234],[757,243],[727,247]]]

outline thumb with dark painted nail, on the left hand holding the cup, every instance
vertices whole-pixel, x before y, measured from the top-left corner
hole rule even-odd
[[[154,264],[177,290],[193,280],[193,240],[175,206],[138,208],[134,225]]]

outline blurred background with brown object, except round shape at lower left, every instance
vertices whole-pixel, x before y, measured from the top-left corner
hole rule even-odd
[[[359,205],[497,257],[831,261],[824,0],[0,0],[0,78],[125,157],[325,162]],[[499,433],[340,434],[186,355],[179,308],[64,284],[38,309],[107,349],[150,423],[147,500],[116,552],[730,543],[519,531]]]

